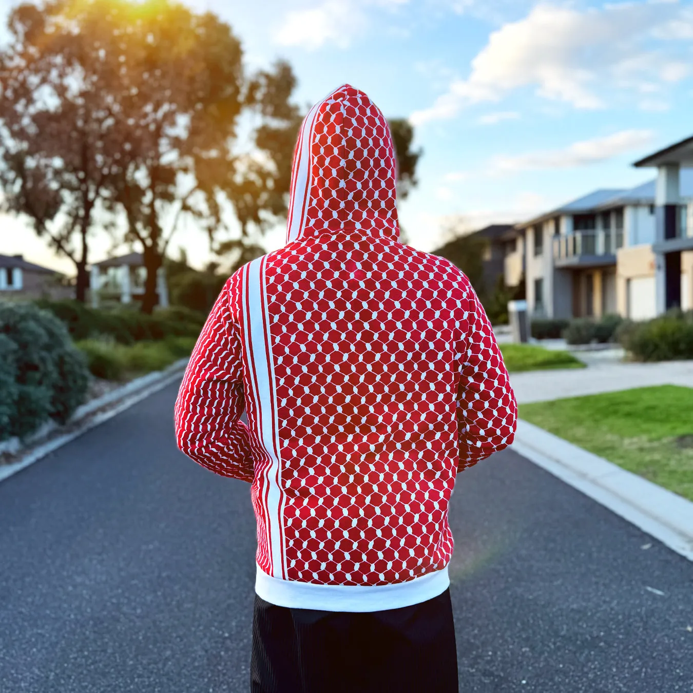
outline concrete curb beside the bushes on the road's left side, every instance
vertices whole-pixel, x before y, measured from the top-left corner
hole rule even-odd
[[[164,389],[166,385],[174,383],[175,380],[182,376],[187,363],[188,359],[186,358],[177,360],[163,371],[156,371],[155,373],[150,373],[141,378],[131,380],[127,385],[114,389],[112,392],[78,407],[68,423],[68,426],[77,424],[76,429],[58,435],[46,441],[44,444],[37,445],[33,449],[30,448],[19,462],[0,465],[0,482],[3,482],[8,479],[8,477],[28,467],[30,464],[38,462],[42,457],[52,453],[53,450],[57,450],[64,444],[69,443],[69,441],[78,438],[90,428],[94,428],[100,423],[112,419],[116,414],[120,414],[128,409],[128,407],[132,407],[132,405],[137,404],[139,401],[150,396],[150,394],[154,394],[160,389]],[[103,409],[103,407],[108,408],[103,412],[99,411]]]

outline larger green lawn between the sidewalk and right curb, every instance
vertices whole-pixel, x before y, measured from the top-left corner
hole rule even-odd
[[[522,404],[520,416],[693,500],[693,388],[659,385]]]

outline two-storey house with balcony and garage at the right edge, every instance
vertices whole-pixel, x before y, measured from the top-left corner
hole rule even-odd
[[[635,164],[658,166],[656,181],[597,190],[516,227],[532,315],[648,319],[693,308],[689,156],[693,165],[693,138]]]

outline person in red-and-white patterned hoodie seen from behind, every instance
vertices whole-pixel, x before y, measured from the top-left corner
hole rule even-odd
[[[395,162],[362,91],[310,109],[286,245],[227,281],[180,387],[179,448],[251,484],[254,693],[457,691],[448,503],[516,402],[464,274],[399,242]]]

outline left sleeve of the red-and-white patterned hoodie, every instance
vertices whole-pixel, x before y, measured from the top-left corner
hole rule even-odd
[[[222,289],[191,354],[175,403],[178,447],[216,474],[252,482],[249,432],[240,421],[243,357],[240,328]]]

